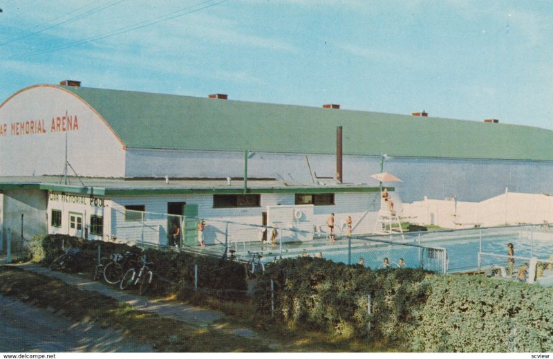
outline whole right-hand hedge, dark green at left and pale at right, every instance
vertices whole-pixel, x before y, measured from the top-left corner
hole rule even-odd
[[[370,270],[319,258],[285,259],[267,266],[256,284],[255,302],[267,314],[270,279],[276,319],[296,326],[383,340],[402,351],[553,349],[553,288],[409,268]]]

